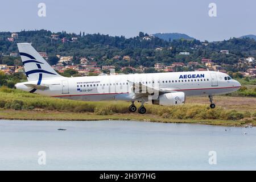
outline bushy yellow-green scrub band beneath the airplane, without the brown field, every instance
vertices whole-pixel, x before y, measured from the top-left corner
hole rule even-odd
[[[40,96],[38,94],[31,94],[22,92],[20,90],[9,89],[6,87],[0,88],[0,115],[6,111],[24,111],[32,112],[39,111],[53,112],[65,114],[79,114],[87,113],[90,116],[101,115],[98,118],[115,118],[116,115],[122,114],[122,117],[136,118],[134,114],[130,114],[127,110],[129,102],[113,101],[113,102],[85,102],[63,100],[58,98],[51,98]],[[8,113],[8,112],[7,112]],[[133,115],[133,117],[131,117]],[[147,105],[147,114],[144,118],[155,118],[156,121],[174,122],[174,121],[243,121],[244,118],[249,121],[255,120],[255,112],[242,112],[238,110],[227,110],[221,106],[216,109],[210,109],[208,105],[204,104],[185,104],[181,106],[159,106]],[[105,117],[104,117],[105,116]],[[10,116],[9,116],[10,117]],[[137,117],[143,118],[142,115]],[[2,118],[2,117],[1,117]],[[6,118],[6,117],[5,117]],[[21,116],[24,118],[24,116]],[[54,118],[53,118],[54,119]],[[56,119],[56,118],[55,118]],[[88,118],[87,118],[88,119]],[[162,119],[162,120],[161,120]],[[85,119],[82,119],[85,120]],[[151,119],[152,120],[152,119]],[[154,120],[154,119],[153,119]]]

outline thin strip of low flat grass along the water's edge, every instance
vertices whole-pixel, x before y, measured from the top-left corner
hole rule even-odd
[[[159,123],[189,123],[200,125],[227,126],[227,127],[245,127],[256,126],[256,121],[239,120],[227,121],[219,119],[169,119],[162,118],[153,114],[112,114],[97,115],[94,113],[71,113],[60,111],[35,111],[35,110],[0,110],[0,120],[25,120],[25,121],[138,121],[138,122],[159,122]]]

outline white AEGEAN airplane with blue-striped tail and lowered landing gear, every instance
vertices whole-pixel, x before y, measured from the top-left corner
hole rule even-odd
[[[216,106],[213,96],[241,88],[240,82],[226,73],[214,71],[63,77],[30,43],[17,44],[28,81],[17,83],[15,88],[44,96],[82,101],[130,101],[131,113],[137,110],[134,102],[138,101],[141,102],[138,113],[144,114],[145,102],[181,105],[187,96],[208,96],[213,109]]]

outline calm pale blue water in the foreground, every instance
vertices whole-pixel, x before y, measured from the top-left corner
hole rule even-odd
[[[46,152],[46,165],[38,164],[39,151]],[[209,164],[209,151],[217,152],[216,165]],[[256,128],[135,121],[0,121],[0,170],[52,169],[255,170]]]

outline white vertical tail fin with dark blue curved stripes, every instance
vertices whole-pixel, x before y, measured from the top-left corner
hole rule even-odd
[[[41,82],[45,78],[60,76],[30,43],[17,43],[28,81]],[[40,83],[38,84],[40,85]]]

